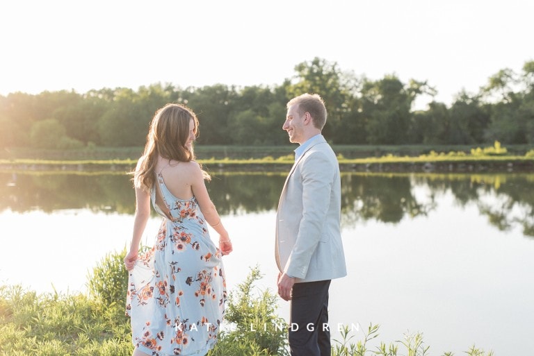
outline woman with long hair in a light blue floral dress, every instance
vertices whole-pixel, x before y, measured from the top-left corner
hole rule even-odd
[[[222,255],[232,242],[195,162],[195,114],[167,104],[150,124],[145,152],[133,172],[136,214],[124,264],[133,356],[205,355],[217,341],[227,293]],[[150,201],[163,222],[154,246],[139,255]],[[219,234],[217,248],[207,224]]]

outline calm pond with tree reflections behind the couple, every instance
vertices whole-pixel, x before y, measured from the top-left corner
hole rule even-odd
[[[430,355],[473,344],[534,349],[534,174],[343,173],[348,276],[330,287],[330,326],[379,341],[423,332]],[[285,173],[214,173],[208,189],[234,241],[229,289],[250,267],[275,291],[275,209]],[[129,244],[135,197],[124,174],[0,173],[0,284],[84,291],[106,253]],[[161,219],[149,221],[151,244]],[[280,301],[279,313],[289,313]],[[334,332],[339,339],[339,333]]]

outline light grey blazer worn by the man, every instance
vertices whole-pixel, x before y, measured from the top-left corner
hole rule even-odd
[[[347,274],[340,231],[339,163],[322,135],[311,139],[289,171],[276,219],[276,263],[296,282]]]

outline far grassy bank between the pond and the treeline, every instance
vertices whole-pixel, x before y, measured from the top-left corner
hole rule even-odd
[[[375,149],[378,149],[376,146]],[[417,146],[419,151],[426,151]],[[291,149],[293,149],[291,147]],[[458,147],[457,147],[458,148]],[[213,149],[213,147],[211,147]],[[221,148],[222,149],[222,148]],[[293,153],[286,147],[233,147],[234,151],[229,153],[224,151],[221,158],[212,155],[211,158],[201,158],[206,156],[198,153],[199,161],[210,170],[261,170],[261,171],[286,171],[293,164]],[[335,149],[335,148],[334,148]],[[357,153],[369,153],[369,146],[363,150],[363,146],[347,146],[339,149],[337,158],[343,171],[534,171],[534,149],[523,154],[513,153],[501,147],[499,142],[494,146],[485,148],[471,148],[469,151],[435,151],[419,155],[401,155],[402,151],[414,150],[413,146],[389,146],[391,151],[382,155],[369,155],[366,157],[354,158]],[[383,149],[383,147],[382,147]],[[382,152],[380,149],[380,152]],[[517,149],[517,147],[516,147]],[[525,150],[526,147],[521,146]],[[246,151],[245,150],[251,150]],[[275,151],[283,152],[282,155],[266,155]],[[128,149],[115,149],[102,151],[96,156],[111,154],[116,155],[131,154]],[[138,151],[136,151],[138,154]],[[345,154],[343,154],[345,152]],[[113,159],[72,159],[76,151],[63,153],[71,159],[42,159],[42,158],[1,158],[0,169],[3,170],[62,170],[62,171],[130,171],[135,167],[137,158],[113,158]],[[78,152],[79,153],[79,152]],[[375,154],[378,151],[375,151]],[[27,155],[30,152],[26,152]],[[44,153],[41,153],[44,155]],[[51,153],[49,152],[49,155]],[[243,158],[248,155],[248,158]],[[238,158],[241,156],[242,158]],[[261,156],[261,157],[260,157]]]

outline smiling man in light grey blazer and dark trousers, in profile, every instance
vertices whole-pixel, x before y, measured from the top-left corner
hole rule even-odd
[[[321,130],[326,108],[317,94],[287,103],[282,128],[300,144],[278,203],[275,257],[278,294],[291,300],[292,356],[330,356],[328,288],[346,276],[341,243],[341,180]]]

